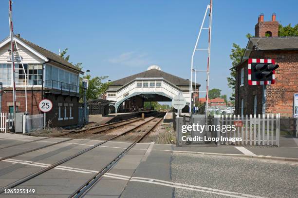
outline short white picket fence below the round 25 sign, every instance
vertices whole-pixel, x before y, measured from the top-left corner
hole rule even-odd
[[[43,128],[43,114],[23,115],[23,134]]]

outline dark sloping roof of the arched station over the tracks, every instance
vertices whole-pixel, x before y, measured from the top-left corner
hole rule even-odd
[[[163,72],[163,71],[160,71],[157,69],[150,69],[145,72],[141,72],[138,74],[134,74],[134,75],[125,77],[123,79],[118,79],[118,80],[112,81],[112,86],[123,86],[136,78],[163,78],[163,79],[173,83],[176,86],[189,86],[189,80],[182,79],[180,77],[174,76],[172,74],[168,74],[166,72]],[[198,83],[197,83],[197,85],[200,86],[200,84],[198,84]]]

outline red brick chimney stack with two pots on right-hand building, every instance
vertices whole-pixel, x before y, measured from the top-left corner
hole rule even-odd
[[[272,14],[271,21],[264,21],[264,14],[258,18],[258,23],[255,26],[255,37],[278,37],[279,36],[279,22],[276,21],[276,14]]]

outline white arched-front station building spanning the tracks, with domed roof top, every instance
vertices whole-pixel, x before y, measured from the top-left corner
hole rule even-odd
[[[114,101],[110,104],[110,113],[141,110],[146,101],[172,101],[179,92],[187,102],[182,111],[189,112],[189,83],[188,79],[168,74],[159,66],[151,65],[147,71],[112,81],[107,91],[107,99]],[[199,87],[197,83],[197,91]]]

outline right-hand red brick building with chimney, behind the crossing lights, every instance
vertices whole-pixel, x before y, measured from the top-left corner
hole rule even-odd
[[[235,113],[262,114],[264,105],[265,113],[292,117],[293,96],[298,93],[298,37],[278,37],[279,23],[275,14],[271,21],[263,19],[261,14],[255,26],[255,37],[248,40],[242,62],[236,66]],[[274,59],[279,64],[275,70],[275,83],[248,85],[248,59]]]

